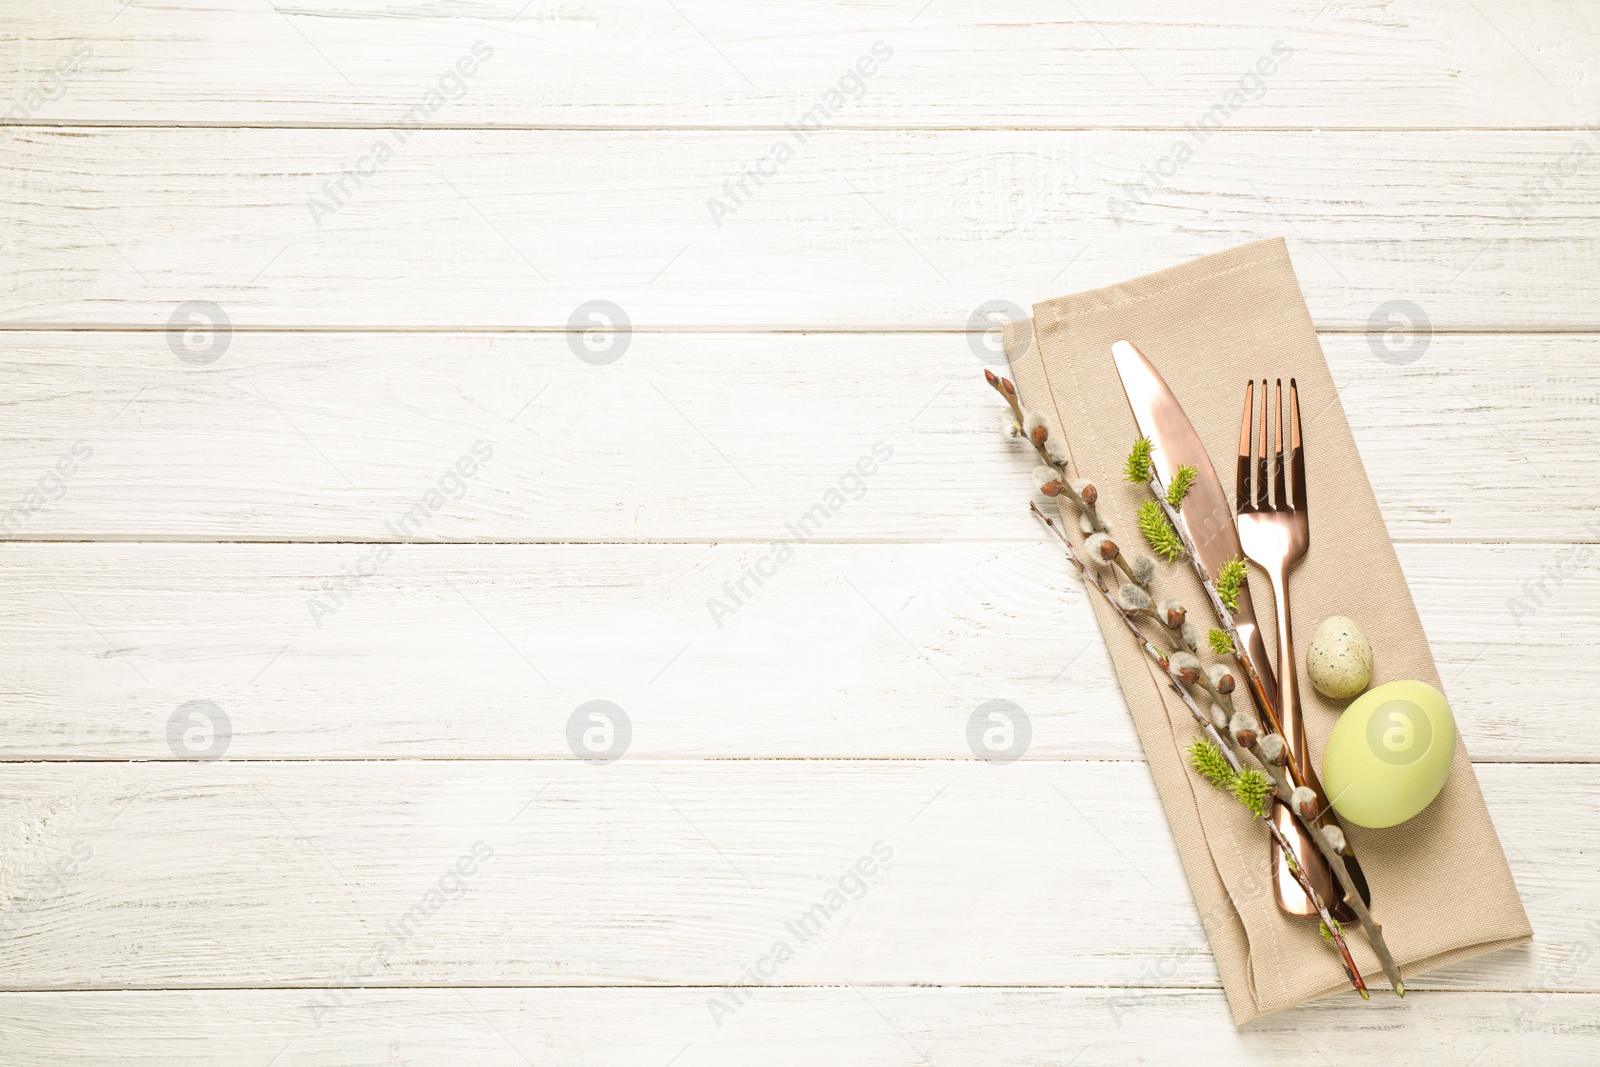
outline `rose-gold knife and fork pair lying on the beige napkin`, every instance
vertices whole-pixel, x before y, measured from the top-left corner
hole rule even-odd
[[[1181,522],[1194,544],[1194,563],[1203,568],[1211,581],[1216,581],[1226,563],[1248,558],[1266,573],[1272,584],[1277,617],[1275,669],[1267,659],[1266,637],[1256,621],[1248,584],[1238,590],[1238,608],[1230,611],[1234,627],[1243,643],[1243,648],[1238,649],[1238,661],[1262,718],[1274,733],[1283,736],[1288,747],[1290,781],[1317,795],[1317,808],[1322,814],[1312,822],[1322,825],[1333,816],[1306,744],[1299,672],[1294,661],[1294,632],[1290,619],[1290,571],[1304,558],[1310,545],[1306,448],[1296,382],[1293,378],[1288,382],[1286,419],[1282,381],[1277,382],[1270,398],[1269,382],[1266,379],[1259,382],[1259,414],[1256,408],[1258,382],[1251,381],[1245,386],[1235,507],[1230,510],[1229,496],[1205,445],[1200,442],[1200,435],[1155,365],[1128,341],[1118,341],[1112,346],[1112,358],[1117,363],[1117,374],[1122,378],[1123,392],[1128,395],[1139,434],[1150,440],[1150,458],[1162,482],[1171,485],[1181,467],[1192,467],[1195,472],[1194,485],[1179,507]],[[1285,435],[1288,437],[1286,454]],[[1338,891],[1333,872],[1290,814],[1283,798],[1274,805],[1272,819],[1285,838],[1294,845],[1296,861],[1317,894],[1330,902],[1330,912],[1334,918],[1352,920],[1355,913],[1350,904],[1342,899],[1342,893]],[[1290,872],[1288,861],[1275,838],[1270,848],[1272,889],[1278,907],[1290,915],[1314,915],[1315,909]],[[1366,880],[1354,856],[1346,859],[1346,865],[1362,901],[1370,902]]]

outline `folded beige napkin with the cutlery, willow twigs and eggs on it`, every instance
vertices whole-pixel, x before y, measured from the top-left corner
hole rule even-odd
[[[1094,608],[1234,1021],[1526,944],[1283,242],[1038,302],[1006,362],[1006,451]]]

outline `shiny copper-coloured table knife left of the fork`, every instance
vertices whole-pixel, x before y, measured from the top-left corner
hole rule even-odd
[[[1110,352],[1117,362],[1122,389],[1128,395],[1128,406],[1133,408],[1133,421],[1138,424],[1139,434],[1150,438],[1150,459],[1155,464],[1155,470],[1162,475],[1162,482],[1171,485],[1173,475],[1182,466],[1190,466],[1197,470],[1194,486],[1179,509],[1179,517],[1195,545],[1195,560],[1211,576],[1211,581],[1216,581],[1224,563],[1243,558],[1245,553],[1238,544],[1238,531],[1234,528],[1234,512],[1229,509],[1227,493],[1216,477],[1211,456],[1206,454],[1200,435],[1195,434],[1189,416],[1184,414],[1182,405],[1178,403],[1178,397],[1173,395],[1160,371],[1155,370],[1155,365],[1128,341],[1117,341]],[[1272,661],[1267,657],[1267,641],[1261,633],[1261,625],[1256,622],[1256,611],[1250,600],[1248,585],[1238,590],[1238,609],[1230,614],[1243,641],[1243,648],[1240,649],[1243,654],[1238,661],[1245,670],[1256,707],[1261,709],[1270,728],[1282,733],[1277,713],[1278,683],[1272,670]],[[1280,664],[1280,667],[1283,670],[1294,670],[1294,664]],[[1307,755],[1299,753],[1298,760],[1291,758],[1288,768],[1290,779],[1296,785],[1309,784],[1322,797],[1322,784],[1317,781]],[[1354,910],[1344,902],[1344,894],[1336,889],[1338,883],[1328,869],[1328,861],[1323,859],[1317,845],[1306,837],[1306,832],[1294,822],[1288,809],[1282,806],[1282,801],[1278,809],[1274,811],[1274,821],[1285,832],[1285,837],[1294,843],[1296,857],[1304,867],[1307,880],[1315,886],[1323,902],[1328,904],[1328,910],[1333,912],[1334,918],[1341,921],[1354,920]],[[1347,864],[1357,885],[1365,889],[1365,880],[1355,873],[1354,857]],[[1272,841],[1272,896],[1277,899],[1278,909],[1290,915],[1315,915],[1315,909],[1306,899],[1306,893],[1294,880],[1294,875],[1290,873],[1277,840]],[[1366,893],[1363,891],[1362,896],[1365,897]]]

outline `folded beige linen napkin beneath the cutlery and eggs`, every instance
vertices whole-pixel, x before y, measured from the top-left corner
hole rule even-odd
[[[1074,477],[1094,480],[1107,522],[1130,544],[1139,541],[1139,491],[1122,478],[1122,466],[1138,430],[1110,357],[1120,339],[1160,368],[1224,478],[1234,470],[1245,382],[1298,379],[1310,550],[1290,579],[1294,645],[1304,656],[1317,622],[1346,614],[1371,638],[1373,685],[1418,678],[1443,689],[1285,243],[1254,242],[1035,304],[1032,323],[1006,328],[1022,403],[1046,419],[1051,435],[1064,437]],[[1232,496],[1234,486],[1224,488]],[[1254,568],[1250,581],[1258,613],[1264,611],[1267,648],[1275,648],[1270,587]],[[1205,595],[1187,568],[1168,568],[1162,582],[1192,611],[1203,609]],[[1099,597],[1090,603],[1178,840],[1234,1021],[1339,990],[1355,997],[1317,921],[1278,912],[1266,830],[1186,766],[1182,749],[1195,736],[1187,709],[1112,609]],[[1342,704],[1310,688],[1304,659],[1294,669],[1302,672],[1312,758],[1322,766]],[[1422,814],[1387,830],[1349,830],[1371,883],[1373,913],[1408,977],[1533,937],[1459,739],[1450,781]],[[1390,995],[1365,937],[1352,933],[1349,941],[1362,974],[1374,982],[1374,997]]]

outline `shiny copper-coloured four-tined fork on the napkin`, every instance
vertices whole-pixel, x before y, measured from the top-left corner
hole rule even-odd
[[[1290,779],[1296,785],[1306,785],[1317,793],[1315,825],[1323,825],[1334,819],[1328,809],[1328,795],[1322,789],[1322,781],[1312,768],[1310,752],[1306,747],[1306,720],[1301,715],[1299,699],[1299,662],[1294,659],[1294,630],[1290,622],[1290,569],[1306,557],[1310,545],[1310,510],[1306,499],[1306,448],[1301,440],[1299,421],[1299,389],[1290,379],[1290,458],[1283,462],[1283,381],[1277,382],[1274,410],[1267,410],[1267,382],[1261,382],[1261,419],[1254,418],[1256,382],[1245,386],[1245,414],[1238,427],[1238,480],[1237,480],[1237,512],[1238,542],[1245,555],[1267,573],[1272,581],[1272,600],[1278,617],[1278,729],[1288,744]],[[1274,451],[1267,459],[1267,429],[1272,424]],[[1259,426],[1259,446],[1251,456],[1251,429]],[[1270,475],[1270,496],[1269,490]],[[1285,475],[1288,478],[1285,480]],[[1272,821],[1283,830],[1283,835],[1296,841],[1299,848],[1315,849],[1315,845],[1304,840],[1302,832],[1294,824],[1294,816],[1280,798],[1274,805]],[[1312,853],[1312,862],[1304,862],[1317,894],[1328,904],[1334,918],[1349,921],[1355,918],[1354,910],[1344,902],[1344,893],[1336,889],[1333,873],[1322,862],[1322,856]],[[1366,878],[1354,856],[1346,857],[1346,867],[1363,901],[1370,899]],[[1317,909],[1306,899],[1306,893],[1282,862],[1280,845],[1272,840],[1272,872],[1274,891],[1278,907],[1291,915],[1315,915]]]

